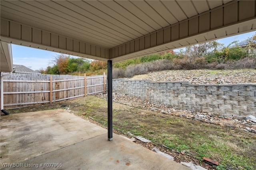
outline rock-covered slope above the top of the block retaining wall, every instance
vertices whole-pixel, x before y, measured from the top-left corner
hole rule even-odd
[[[191,81],[192,84],[256,83],[256,69],[167,70],[136,75],[131,79],[147,79],[156,82]]]

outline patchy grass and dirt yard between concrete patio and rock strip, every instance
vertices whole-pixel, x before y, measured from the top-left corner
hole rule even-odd
[[[100,96],[9,109],[11,114],[50,109],[66,109],[83,119],[107,127],[107,101]],[[152,142],[135,142],[152,150],[157,147],[176,162],[190,162],[208,170],[256,169],[256,134],[235,127],[213,125],[157,111],[113,102],[113,128],[116,134],[131,138],[143,136]],[[212,166],[206,156],[219,162]]]

